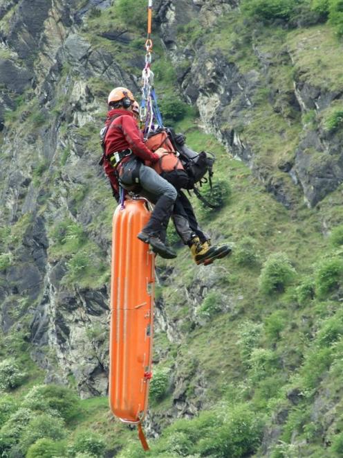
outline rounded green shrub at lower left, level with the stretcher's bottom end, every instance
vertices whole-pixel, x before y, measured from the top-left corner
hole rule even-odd
[[[32,410],[51,409],[58,412],[65,421],[70,421],[80,408],[80,400],[67,387],[36,385],[25,396],[22,405]]]

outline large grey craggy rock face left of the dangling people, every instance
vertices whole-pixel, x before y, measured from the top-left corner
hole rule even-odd
[[[98,119],[101,127],[106,98],[88,81],[101,77],[105,84],[129,87],[136,82],[113,53],[92,46],[77,26],[90,8],[108,6],[109,1],[93,1],[78,11],[76,1],[21,0],[2,2],[0,9],[0,17],[8,17],[0,35],[6,49],[6,58],[0,53],[0,123],[6,125],[1,227],[14,228],[2,240],[1,252],[12,262],[0,274],[1,326],[11,332],[17,321],[13,310],[20,310],[29,325],[33,359],[47,370],[47,380],[75,380],[83,397],[106,394],[109,292],[103,285],[64,283],[71,256],[48,254],[55,243],[48,228],[65,219],[85,228],[99,218],[87,237],[109,263],[101,219],[113,203],[96,165],[98,142],[93,141],[94,150],[88,146],[91,136],[98,136],[93,125]],[[18,122],[11,125],[8,115],[15,108]],[[88,198],[90,180],[98,195]]]

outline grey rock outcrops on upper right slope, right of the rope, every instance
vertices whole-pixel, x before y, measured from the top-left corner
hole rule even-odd
[[[259,146],[245,136],[245,126],[256,116],[256,99],[261,87],[268,87],[270,107],[291,125],[298,118],[315,110],[317,118],[332,103],[341,100],[343,88],[330,90],[304,82],[301,74],[293,76],[293,88],[283,93],[276,81],[272,85],[275,65],[294,64],[293,50],[284,46],[281,51],[263,51],[252,42],[257,65],[250,71],[237,66],[234,46],[225,54],[221,48],[210,49],[206,35],[186,46],[177,42],[176,26],[185,24],[185,18],[196,12],[201,26],[209,26],[214,17],[224,15],[239,6],[238,1],[176,1],[160,2],[158,22],[163,42],[174,62],[188,62],[186,70],[179,71],[179,82],[185,100],[198,108],[203,125],[223,142],[228,151],[250,166],[254,175],[266,184],[277,200],[290,208],[299,201],[300,187],[308,206],[315,206],[342,183],[342,132],[325,132],[322,126],[313,128],[306,123],[299,135],[293,155],[277,170],[268,170],[259,161]],[[213,46],[212,46],[213,47]],[[284,141],[282,132],[279,139]],[[286,146],[286,145],[285,145]],[[277,175],[277,176],[276,176]]]

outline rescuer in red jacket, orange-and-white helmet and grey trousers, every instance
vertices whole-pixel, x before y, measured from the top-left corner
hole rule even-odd
[[[129,89],[116,87],[108,98],[103,135],[103,164],[114,193],[119,194],[118,182],[128,191],[140,193],[155,204],[149,222],[138,234],[144,243],[149,243],[154,252],[163,258],[176,258],[176,253],[161,240],[165,232],[177,192],[174,186],[147,167],[144,161],[154,164],[158,154],[151,152],[142,141],[142,134],[133,117],[135,102]]]

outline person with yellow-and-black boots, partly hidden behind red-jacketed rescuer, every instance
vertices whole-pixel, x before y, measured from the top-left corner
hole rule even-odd
[[[132,111],[136,120],[138,120],[139,110],[139,105],[135,101],[132,105]],[[183,135],[178,134],[176,141],[183,144],[185,141]],[[154,168],[161,177],[171,183],[178,191],[172,219],[178,236],[185,245],[189,246],[195,263],[205,263],[207,265],[212,263],[214,259],[228,256],[231,253],[231,247],[229,245],[219,247],[211,245],[210,236],[199,226],[192,204],[185,193],[181,191],[181,188],[189,188],[189,177],[176,154],[176,148],[170,141],[167,132],[160,130],[156,134],[152,134],[145,141],[145,146],[149,150],[156,152],[160,157],[154,164],[149,164],[149,162],[146,162],[146,164]],[[162,235],[162,238],[165,240],[165,234]]]

